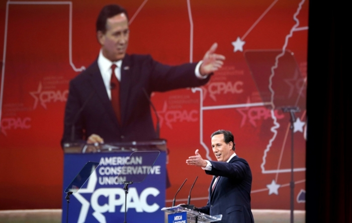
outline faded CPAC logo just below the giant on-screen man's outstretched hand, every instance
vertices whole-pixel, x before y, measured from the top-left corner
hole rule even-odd
[[[216,95],[226,94],[241,94],[243,92],[243,82],[237,81],[231,82],[212,82],[208,86],[202,87],[204,91],[204,99],[206,98],[207,92],[209,97],[216,101]]]

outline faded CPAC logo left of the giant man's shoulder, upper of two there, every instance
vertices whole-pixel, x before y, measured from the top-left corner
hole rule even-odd
[[[46,103],[66,102],[68,90],[64,91],[42,91],[42,83],[39,82],[38,90],[29,93],[34,98],[33,110],[37,108],[38,102],[46,109]]]

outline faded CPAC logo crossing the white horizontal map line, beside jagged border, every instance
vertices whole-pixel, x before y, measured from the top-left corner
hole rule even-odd
[[[256,127],[257,120],[267,120],[272,117],[271,110],[265,107],[256,108],[237,108],[237,111],[242,115],[241,127],[248,120],[251,125]],[[275,117],[282,119],[285,117],[284,114],[279,114],[278,110],[274,111]]]

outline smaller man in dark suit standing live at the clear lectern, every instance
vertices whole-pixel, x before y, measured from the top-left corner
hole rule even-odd
[[[188,165],[202,167],[213,175],[206,206],[196,210],[210,215],[222,214],[219,222],[254,222],[250,209],[252,174],[248,163],[237,157],[235,143],[230,131],[218,130],[211,135],[211,145],[218,161],[203,160],[196,156],[186,160]]]

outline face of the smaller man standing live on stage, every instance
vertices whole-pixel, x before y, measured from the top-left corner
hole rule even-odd
[[[226,144],[224,141],[224,134],[214,135],[211,138],[211,146],[213,148],[216,159],[221,162],[226,162],[234,153],[234,151],[231,149],[232,142]]]

